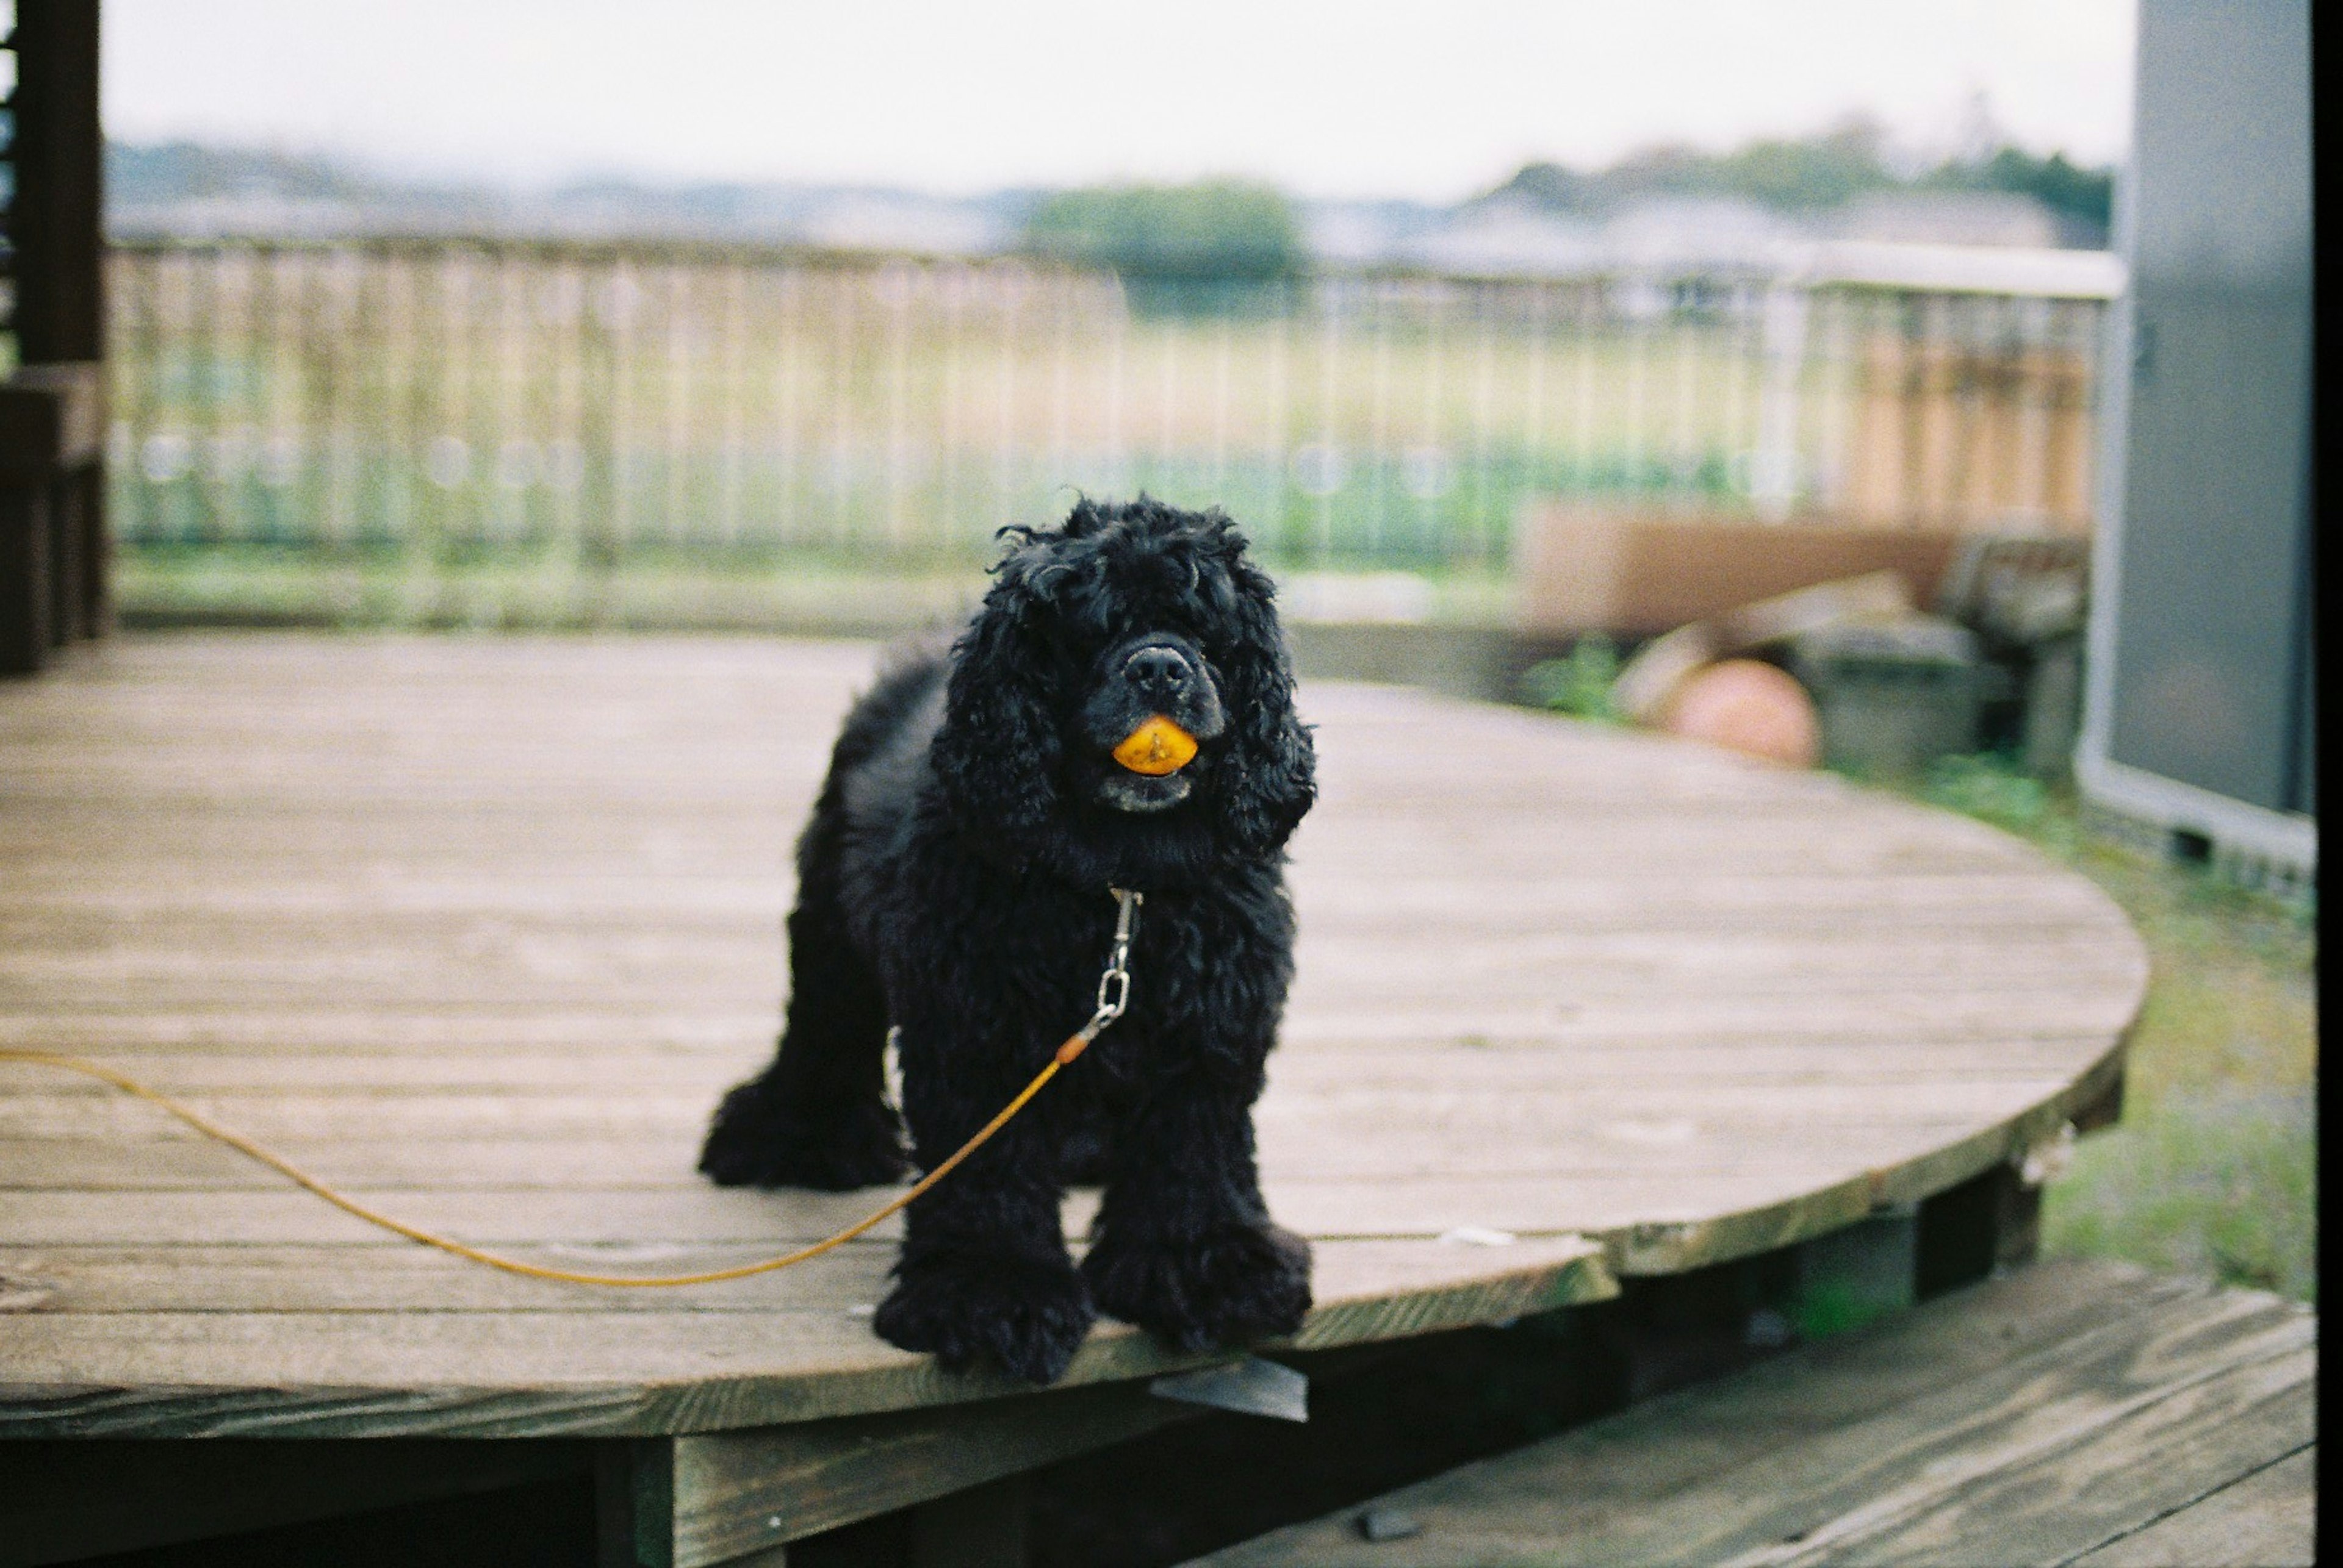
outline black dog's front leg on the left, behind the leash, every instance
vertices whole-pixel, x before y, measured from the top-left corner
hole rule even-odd
[[[1047,1060],[1024,1060],[1031,1037],[933,1048],[940,1037],[942,1027],[904,1020],[904,1119],[928,1170],[1024,1086],[1017,1074],[1031,1077]],[[972,1062],[993,1070],[975,1072]],[[933,1350],[954,1371],[989,1362],[1031,1383],[1057,1381],[1097,1318],[1066,1252],[1061,1196],[1045,1121],[1019,1116],[911,1205],[895,1290],[872,1327],[904,1350]]]

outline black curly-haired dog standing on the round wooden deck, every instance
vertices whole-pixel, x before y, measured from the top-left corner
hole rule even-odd
[[[1183,1348],[1284,1334],[1310,1247],[1270,1224],[1251,1105],[1293,974],[1284,843],[1317,793],[1270,578],[1218,510],[1082,501],[1015,536],[949,653],[846,718],[797,845],[780,1053],[715,1114],[722,1184],[902,1175],[961,1147],[1089,1018],[1115,899],[1146,896],[1132,1004],[909,1210],[876,1329],[944,1367],[1054,1381],[1106,1311]],[[1113,756],[1148,718],[1174,772]],[[1080,1268],[1068,1182],[1106,1194]]]

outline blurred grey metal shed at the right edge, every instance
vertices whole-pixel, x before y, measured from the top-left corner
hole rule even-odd
[[[2310,7],[2144,0],[2118,185],[2088,798],[2317,866]]]

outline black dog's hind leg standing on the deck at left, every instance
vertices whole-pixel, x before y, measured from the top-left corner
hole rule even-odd
[[[804,857],[790,913],[790,1013],[780,1053],[717,1107],[701,1170],[724,1187],[843,1191],[902,1177],[886,1102],[886,995],[846,941],[822,857]]]

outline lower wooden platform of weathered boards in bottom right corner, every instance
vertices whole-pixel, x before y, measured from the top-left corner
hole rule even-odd
[[[2057,1261],[1202,1563],[2308,1568],[2315,1444],[2308,1308]]]

